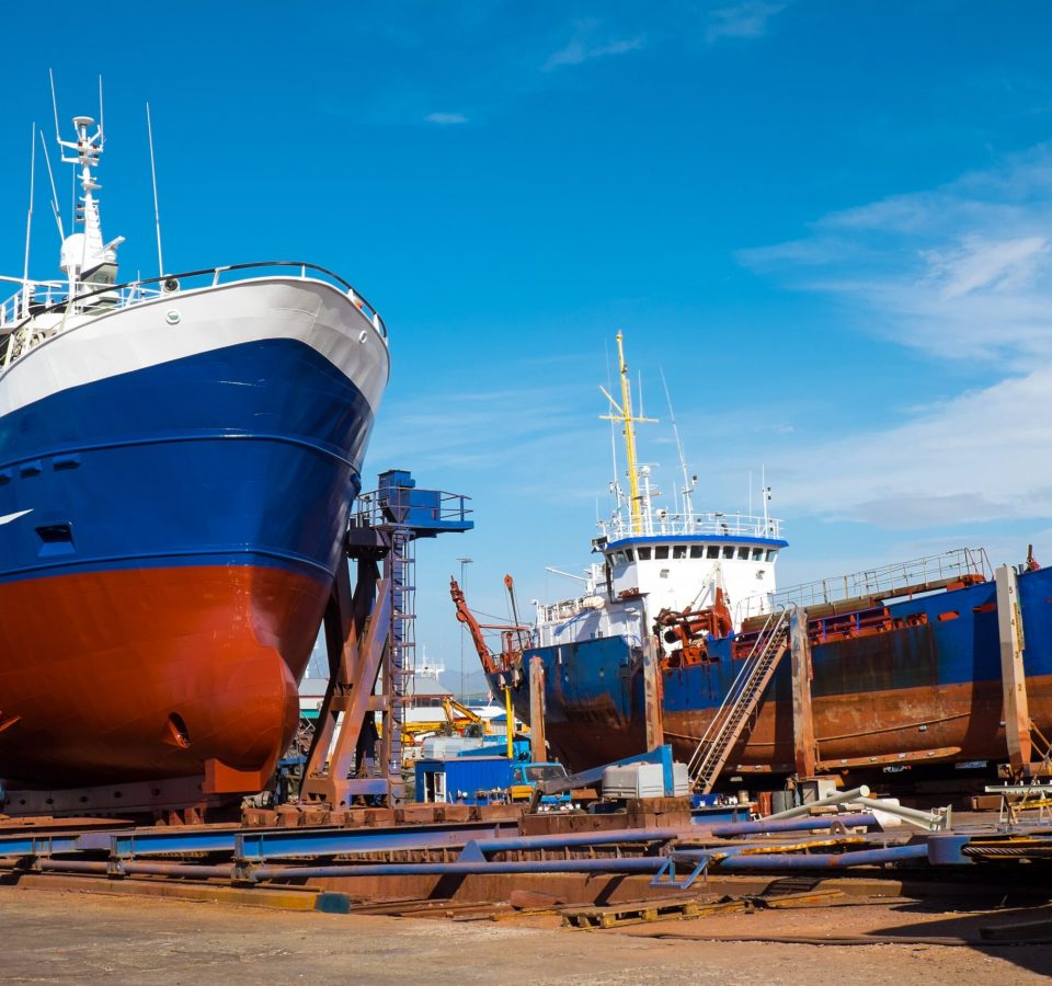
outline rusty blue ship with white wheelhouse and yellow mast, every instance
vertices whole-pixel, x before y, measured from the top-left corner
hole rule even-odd
[[[959,549],[778,592],[787,541],[766,513],[766,488],[762,516],[696,513],[686,472],[675,509],[652,502],[634,461],[620,336],[618,346],[622,394],[610,401],[630,494],[615,484],[581,595],[540,604],[531,645],[505,647],[490,667],[492,687],[511,687],[527,718],[539,660],[552,753],[583,770],[645,749],[652,662],[664,740],[698,767],[699,789],[720,773],[1041,769],[1052,736],[1052,572],[1032,558],[994,572],[981,549]]]

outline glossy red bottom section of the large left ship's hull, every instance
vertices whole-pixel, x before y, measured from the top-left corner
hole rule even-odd
[[[265,780],[296,729],[329,591],[235,565],[0,586],[0,778]]]

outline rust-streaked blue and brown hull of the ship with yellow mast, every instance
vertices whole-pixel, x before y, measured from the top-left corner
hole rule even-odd
[[[1052,735],[1052,570],[1019,575],[1033,724]],[[812,707],[824,769],[893,763],[952,765],[1006,756],[996,588],[980,582],[890,603],[891,629],[814,641]],[[860,615],[856,615],[860,616]],[[839,617],[843,621],[843,615]],[[735,638],[710,640],[711,661],[662,674],[665,740],[688,760],[741,668]],[[644,746],[642,650],[624,637],[527,650],[545,667],[546,731],[578,771]],[[494,683],[499,676],[493,676]],[[727,769],[794,770],[789,662],[765,690]],[[528,718],[528,688],[514,692]]]

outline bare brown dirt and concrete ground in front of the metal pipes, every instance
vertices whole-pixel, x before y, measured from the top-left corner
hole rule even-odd
[[[956,906],[947,913],[908,901],[851,901],[574,931],[561,928],[554,915],[391,918],[0,887],[0,979],[1015,986],[1052,974],[1052,944],[974,943],[981,927],[1032,927],[1052,918],[1052,908]],[[713,937],[739,940],[706,940]],[[877,943],[770,940],[793,937]],[[954,938],[973,943],[921,941]]]

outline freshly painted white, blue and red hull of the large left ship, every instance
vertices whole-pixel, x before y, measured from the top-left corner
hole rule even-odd
[[[47,339],[0,378],[0,777],[264,777],[342,562],[386,345],[310,280]]]

